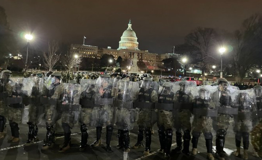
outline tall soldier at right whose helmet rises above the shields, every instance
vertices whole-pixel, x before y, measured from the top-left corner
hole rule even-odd
[[[230,86],[227,80],[219,78],[217,84],[218,91],[211,96],[218,109],[217,118],[213,120],[213,128],[216,130],[216,155],[219,159],[224,160],[226,152],[224,152],[223,148],[230,115],[237,114],[238,109],[232,106],[231,91],[229,90]],[[217,100],[217,102],[215,100]]]

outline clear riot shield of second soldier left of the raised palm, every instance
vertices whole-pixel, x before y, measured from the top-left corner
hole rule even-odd
[[[78,122],[80,94],[81,86],[79,84],[63,83],[61,85],[57,111],[62,112],[62,123],[69,124],[71,128]]]

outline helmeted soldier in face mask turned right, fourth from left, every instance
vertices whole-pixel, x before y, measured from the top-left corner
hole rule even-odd
[[[57,99],[60,95],[60,79],[61,74],[54,72],[47,79],[44,79],[41,87],[40,101],[45,107],[45,120],[46,120],[46,141],[42,146],[42,150],[47,150],[54,146],[55,128],[54,125],[57,121]]]

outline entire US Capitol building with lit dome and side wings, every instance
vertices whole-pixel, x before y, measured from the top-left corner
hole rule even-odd
[[[131,20],[129,20],[127,29],[123,32],[119,47],[117,49],[98,48],[97,46],[71,44],[71,52],[81,54],[83,57],[101,58],[103,54],[109,54],[115,57],[115,60],[120,56],[122,59],[133,59],[137,55],[137,59],[143,60],[147,66],[161,65],[161,61],[165,58],[170,58],[173,54],[165,53],[149,53],[147,50],[138,49],[136,32],[132,29]],[[135,54],[136,53],[136,54]],[[153,67],[154,68],[154,67]]]

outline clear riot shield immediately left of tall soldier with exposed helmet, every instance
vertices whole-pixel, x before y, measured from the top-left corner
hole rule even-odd
[[[217,87],[198,86],[196,90],[193,114],[195,116],[217,117],[217,107],[211,98],[211,95],[217,91]]]

